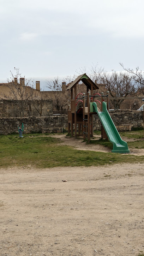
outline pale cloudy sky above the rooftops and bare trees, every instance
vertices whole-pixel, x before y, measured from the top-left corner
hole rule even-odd
[[[143,0],[0,0],[0,82],[19,68],[40,80],[91,65],[144,70]]]

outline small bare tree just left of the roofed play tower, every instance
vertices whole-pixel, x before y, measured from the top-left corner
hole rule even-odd
[[[62,83],[59,81],[59,77],[55,77],[54,80],[46,80],[47,87],[51,93],[51,100],[53,100],[53,106],[56,110],[62,110],[67,105],[67,94],[62,91]]]

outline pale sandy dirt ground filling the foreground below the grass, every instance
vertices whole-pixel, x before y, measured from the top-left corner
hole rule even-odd
[[[0,256],[144,252],[144,163],[1,169],[0,184]]]

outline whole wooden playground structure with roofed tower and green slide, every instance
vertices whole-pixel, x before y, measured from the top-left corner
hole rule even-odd
[[[82,81],[86,85],[86,94],[77,94],[77,84]],[[80,85],[79,85],[80,86]],[[71,137],[73,137],[73,124],[74,134],[77,138],[77,127],[78,136],[83,136],[84,140],[93,137],[93,115],[98,114],[101,120],[101,138],[109,139],[113,143],[113,153],[129,153],[127,143],[122,141],[112,118],[109,115],[109,92],[107,95],[101,95],[94,93],[94,90],[99,89],[97,85],[85,74],[78,76],[66,90],[71,89],[71,109],[68,105],[68,133],[71,131]],[[89,91],[90,90],[90,91]],[[78,97],[79,96],[79,97]],[[99,98],[100,100],[95,100]],[[106,102],[104,102],[106,100]],[[78,102],[83,104],[83,107],[77,107]],[[98,110],[96,102],[99,103],[101,111]],[[78,108],[78,109],[77,109]]]

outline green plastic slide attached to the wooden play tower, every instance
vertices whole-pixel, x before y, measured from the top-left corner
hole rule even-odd
[[[123,141],[116,129],[112,118],[107,111],[106,102],[102,102],[102,111],[98,112],[96,102],[90,103],[90,112],[96,112],[101,120],[104,130],[107,133],[109,141],[113,143],[113,153],[130,153],[127,143]]]

